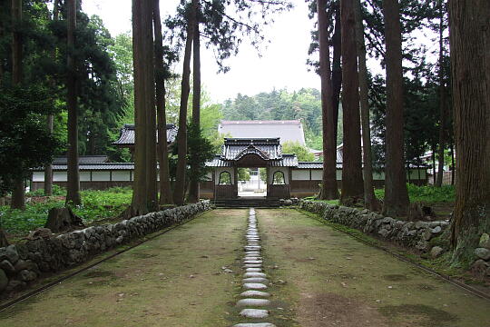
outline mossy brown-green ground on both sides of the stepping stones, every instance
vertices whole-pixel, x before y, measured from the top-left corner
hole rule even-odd
[[[231,326],[248,210],[204,213],[0,312],[0,326]],[[257,210],[269,322],[490,326],[490,304],[325,223]],[[229,268],[232,272],[225,272]]]

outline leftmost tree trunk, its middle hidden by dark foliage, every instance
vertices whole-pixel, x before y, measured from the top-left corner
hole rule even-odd
[[[22,84],[22,35],[19,26],[22,21],[22,1],[12,0],[12,84]],[[22,164],[22,163],[21,163]],[[17,179],[12,190],[12,209],[25,210],[24,178]]]

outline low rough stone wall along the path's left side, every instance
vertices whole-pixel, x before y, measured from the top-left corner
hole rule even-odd
[[[210,209],[207,200],[0,248],[0,295],[25,288],[43,272],[59,272],[84,263],[96,254]]]

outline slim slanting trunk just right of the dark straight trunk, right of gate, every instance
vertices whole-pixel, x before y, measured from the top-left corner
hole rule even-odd
[[[364,41],[364,25],[362,24],[360,0],[354,0],[356,15],[356,41],[359,64],[359,95],[362,124],[362,154],[364,161],[364,207],[377,210],[377,199],[373,187],[373,158],[371,151],[371,127],[368,101],[368,66],[366,64],[366,44]]]

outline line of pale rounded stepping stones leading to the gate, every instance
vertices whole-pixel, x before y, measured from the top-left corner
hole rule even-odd
[[[255,210],[250,208],[249,228],[245,238],[247,245],[244,246],[245,255],[243,257],[243,292],[240,297],[243,299],[237,302],[237,307],[243,308],[240,311],[240,316],[244,318],[262,320],[269,317],[270,293],[268,289],[269,280],[267,274],[262,272],[263,261],[260,256],[260,234],[257,225],[257,217]],[[234,327],[274,327],[275,325],[269,322],[245,322],[237,323]]]

